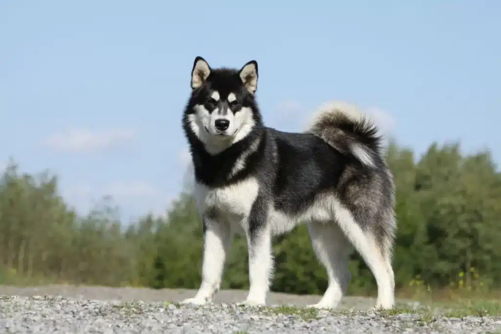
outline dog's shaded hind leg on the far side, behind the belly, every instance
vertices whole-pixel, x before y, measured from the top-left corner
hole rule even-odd
[[[346,293],[351,279],[348,256],[353,249],[336,222],[309,222],[308,232],[318,259],[327,270],[329,285],[322,299],[308,307],[335,308]]]

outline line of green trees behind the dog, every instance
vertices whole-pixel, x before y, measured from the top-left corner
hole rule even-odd
[[[458,143],[433,143],[417,157],[391,142],[386,153],[397,189],[397,289],[416,277],[433,288],[500,287],[501,173],[490,152],[466,155]],[[119,210],[105,197],[79,215],[60,194],[57,175],[21,173],[11,162],[0,177],[0,283],[198,287],[202,226],[189,188],[165,217],[146,213],[125,224]],[[272,290],[322,293],[327,287],[304,225],[275,238],[274,254]],[[356,253],[350,269],[349,293],[375,291]],[[247,274],[246,243],[237,237],[222,288],[248,288]]]

